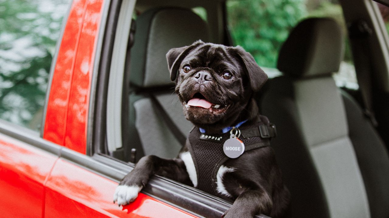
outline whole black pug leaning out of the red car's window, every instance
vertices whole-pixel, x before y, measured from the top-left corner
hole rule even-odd
[[[184,114],[195,128],[177,158],[142,157],[119,183],[114,202],[134,201],[157,174],[233,201],[225,218],[282,217],[289,191],[269,147],[275,127],[259,115],[253,99],[267,75],[239,46],[199,40],[172,48],[166,58]]]

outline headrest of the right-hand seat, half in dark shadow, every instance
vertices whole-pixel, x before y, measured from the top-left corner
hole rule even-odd
[[[277,68],[298,78],[331,75],[343,57],[340,26],[329,18],[301,21],[281,47]]]

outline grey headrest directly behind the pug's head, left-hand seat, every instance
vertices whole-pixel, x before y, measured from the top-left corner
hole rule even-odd
[[[170,48],[209,42],[208,26],[189,9],[158,8],[136,20],[134,45],[130,53],[130,83],[149,88],[173,85],[166,62]]]

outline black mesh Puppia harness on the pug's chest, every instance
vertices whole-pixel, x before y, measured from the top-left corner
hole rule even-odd
[[[256,122],[243,124],[238,129],[241,132],[239,139],[245,145],[245,152],[269,146],[270,138],[276,135],[275,126],[269,123],[265,116],[259,116]],[[193,128],[189,133],[188,149],[195,163],[197,189],[214,196],[225,197],[216,191],[216,175],[220,166],[230,159],[223,151],[223,144],[229,138],[230,131],[221,135],[207,135],[201,133],[199,128]]]

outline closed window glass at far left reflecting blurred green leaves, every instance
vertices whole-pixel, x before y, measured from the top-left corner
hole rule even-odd
[[[39,131],[70,0],[0,0],[0,118]]]

